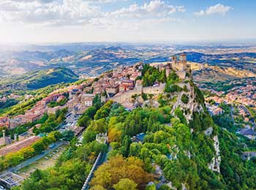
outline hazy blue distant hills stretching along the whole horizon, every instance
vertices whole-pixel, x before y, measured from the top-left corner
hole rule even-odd
[[[0,78],[22,75],[34,70],[56,66],[72,69],[77,75],[97,76],[116,66],[129,66],[139,61],[146,64],[170,61],[170,56],[186,52],[187,60],[210,66],[195,70],[195,80],[232,80],[237,77],[252,77],[256,72],[256,53],[251,49],[223,50],[221,47],[197,47],[171,45],[48,45],[31,47],[28,50],[0,52]],[[235,47],[234,47],[235,48]],[[211,51],[213,50],[213,51]],[[215,51],[214,51],[215,50]],[[237,53],[238,52],[238,53]],[[227,69],[232,68],[232,69]],[[211,76],[211,77],[208,77]],[[216,77],[216,78],[215,78]]]

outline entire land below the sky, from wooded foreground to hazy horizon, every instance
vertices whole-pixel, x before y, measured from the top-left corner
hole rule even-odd
[[[99,180],[108,171],[135,181],[140,189],[232,189],[226,172],[241,163],[243,172],[238,175],[249,176],[254,167],[249,169],[246,160],[254,161],[255,153],[255,55],[210,55],[203,47],[198,51],[204,53],[186,48],[181,53],[182,48],[101,47],[75,55],[60,50],[57,57],[26,52],[28,60],[40,58],[44,63],[33,69],[25,65],[23,74],[0,80],[1,170],[32,160],[12,171],[24,178],[12,189],[42,189],[41,180],[48,188],[80,189],[91,172],[94,177],[86,186],[111,189],[122,179]],[[177,54],[170,58],[170,52]],[[64,149],[57,149],[61,153],[54,152],[58,158],[54,157],[51,147],[63,142]],[[20,145],[17,150],[8,152],[15,143]],[[234,144],[245,146],[234,149]],[[239,159],[226,155],[226,147]],[[98,157],[103,160],[94,168]],[[143,161],[147,165],[135,172],[144,177],[121,172],[115,161],[135,168]],[[74,180],[74,175],[67,177],[70,172],[79,173],[79,179],[61,181]],[[242,184],[249,186],[245,180]]]

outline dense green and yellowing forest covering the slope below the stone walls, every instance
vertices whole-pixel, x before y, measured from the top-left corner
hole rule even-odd
[[[25,180],[22,190],[80,189],[97,154],[108,147],[95,140],[98,133],[108,131],[108,162],[102,164],[91,180],[91,190],[156,189],[161,183],[155,177],[160,167],[166,181],[178,189],[255,189],[255,160],[241,159],[246,148],[236,136],[217,126],[208,114],[194,114],[189,123],[182,113],[170,115],[170,107],[139,107],[127,111],[108,101],[102,106],[96,97],[94,106],[80,118],[86,126],[81,146],[71,140],[54,167],[36,170]],[[208,136],[204,130],[212,126]],[[196,132],[191,133],[191,129]],[[131,137],[145,133],[143,142]],[[208,168],[215,151],[212,137],[218,135],[222,162],[220,173]],[[150,186],[146,186],[148,182]],[[160,189],[170,189],[162,185]]]

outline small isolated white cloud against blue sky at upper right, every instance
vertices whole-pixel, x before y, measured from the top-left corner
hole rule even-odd
[[[225,6],[223,4],[216,4],[214,6],[208,7],[205,11],[200,10],[199,12],[195,12],[194,14],[197,16],[212,15],[212,14],[225,15],[231,9],[233,9],[233,8],[229,7],[229,6]]]

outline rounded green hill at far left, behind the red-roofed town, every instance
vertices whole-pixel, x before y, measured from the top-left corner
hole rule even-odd
[[[71,69],[59,67],[54,69],[29,72],[17,77],[9,77],[0,80],[0,86],[15,89],[39,89],[57,83],[71,83],[78,80]]]

